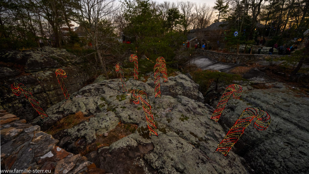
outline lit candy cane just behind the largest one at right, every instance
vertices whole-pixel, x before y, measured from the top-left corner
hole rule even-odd
[[[211,116],[210,119],[214,120],[214,121],[218,121],[222,111],[224,110],[224,107],[227,103],[227,101],[229,101],[231,95],[233,94],[233,97],[235,99],[239,99],[241,97],[241,95],[243,94],[243,89],[241,88],[241,86],[239,85],[229,85],[225,91],[224,94],[222,95],[218,106],[216,107],[216,109],[214,110],[213,115]]]

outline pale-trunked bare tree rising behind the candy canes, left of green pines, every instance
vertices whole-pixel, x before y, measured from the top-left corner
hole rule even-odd
[[[77,22],[84,28],[87,37],[92,41],[93,49],[99,58],[103,67],[103,72],[108,78],[106,63],[101,55],[101,46],[108,46],[108,43],[102,39],[108,35],[103,28],[111,27],[108,17],[119,9],[116,0],[76,0],[76,10],[79,14]]]

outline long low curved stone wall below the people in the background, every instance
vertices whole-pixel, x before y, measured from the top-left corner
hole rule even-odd
[[[258,60],[265,60],[266,57],[281,57],[282,55],[268,55],[268,54],[230,54],[230,53],[220,53],[210,50],[195,50],[195,54],[203,54],[210,57],[218,62],[223,63],[246,63],[254,62]]]

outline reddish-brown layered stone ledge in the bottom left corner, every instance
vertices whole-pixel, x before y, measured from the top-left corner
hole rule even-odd
[[[1,171],[23,173],[86,174],[105,173],[80,154],[72,154],[56,146],[58,140],[40,131],[40,126],[0,110]],[[28,171],[28,172],[27,172]],[[11,172],[9,172],[11,173]],[[12,172],[22,173],[22,172]],[[30,172],[32,173],[32,172]],[[34,172],[33,172],[34,173]]]

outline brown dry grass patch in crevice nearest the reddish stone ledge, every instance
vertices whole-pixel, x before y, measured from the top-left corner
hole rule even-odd
[[[82,111],[78,111],[75,114],[68,115],[61,120],[57,121],[55,125],[50,127],[46,133],[54,135],[63,129],[73,128],[74,126],[78,125],[82,121],[89,121],[89,118],[93,117],[93,115],[89,117],[84,117]]]

